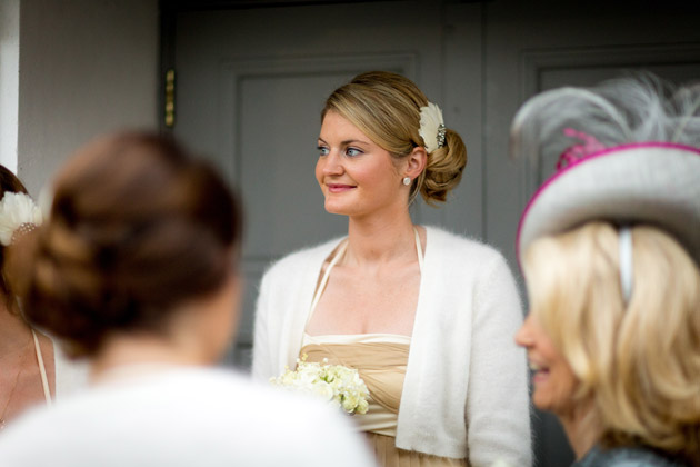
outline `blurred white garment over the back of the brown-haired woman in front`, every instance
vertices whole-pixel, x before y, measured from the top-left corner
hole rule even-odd
[[[181,368],[92,387],[37,409],[3,433],[0,455],[3,466],[111,467],[146,458],[178,467],[320,466],[310,456],[316,443],[340,450],[353,436],[341,417],[231,370]],[[279,449],[263,448],[270,440]],[[359,439],[350,445],[361,450]],[[344,465],[364,465],[354,460]]]

